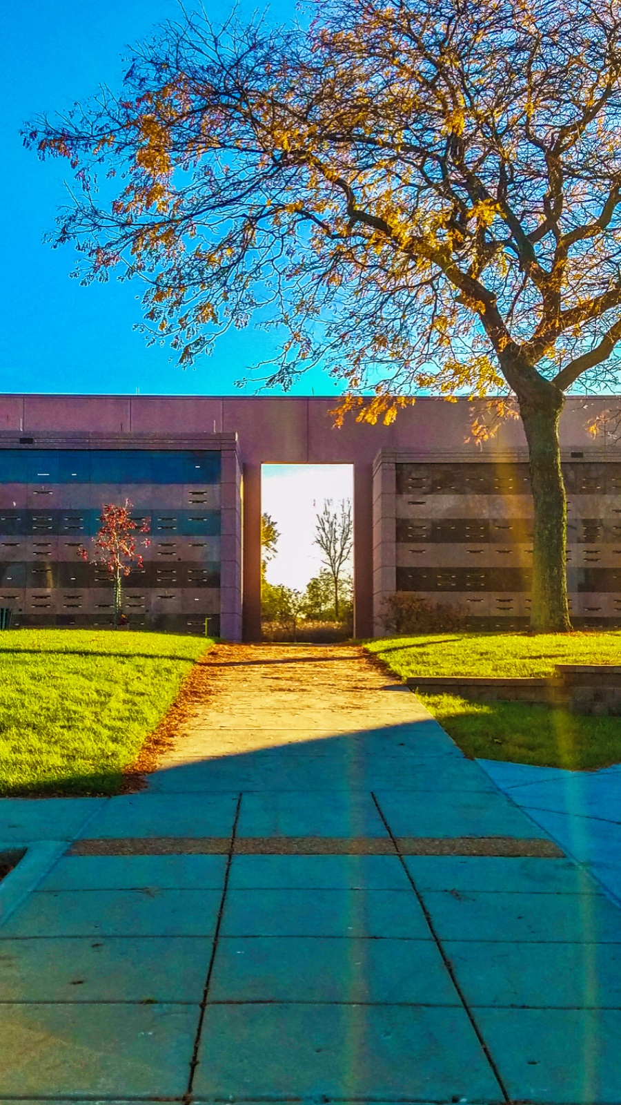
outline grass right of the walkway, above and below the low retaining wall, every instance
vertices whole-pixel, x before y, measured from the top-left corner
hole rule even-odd
[[[550,675],[555,664],[619,664],[621,632],[444,633],[372,641],[369,652],[401,678],[417,675]],[[466,756],[539,767],[621,762],[621,718],[582,717],[558,707],[421,695]]]

